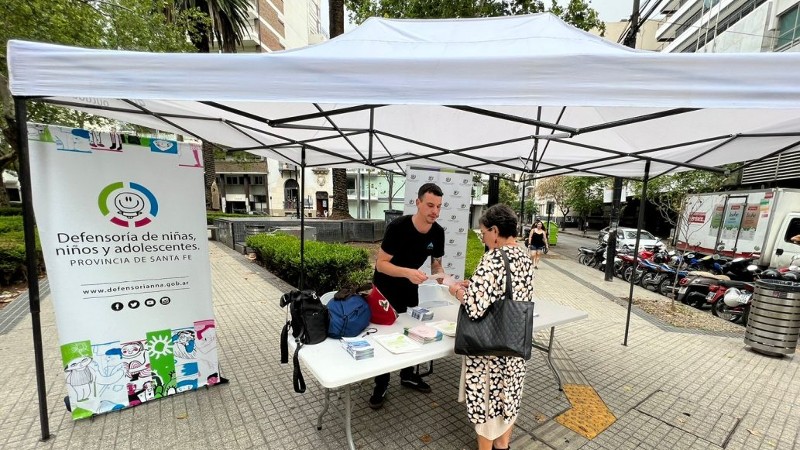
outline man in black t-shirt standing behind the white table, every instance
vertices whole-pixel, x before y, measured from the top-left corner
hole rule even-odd
[[[419,269],[428,258],[431,258],[431,274],[444,273],[444,228],[436,223],[442,196],[439,186],[423,184],[417,192],[417,212],[398,217],[386,227],[372,281],[398,313],[419,304],[417,286],[428,279]],[[400,385],[424,393],[431,391],[413,367],[400,371]],[[383,406],[388,388],[388,373],[375,377],[375,390],[369,399],[372,409]]]

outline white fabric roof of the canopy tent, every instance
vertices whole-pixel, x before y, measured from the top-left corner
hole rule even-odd
[[[635,51],[550,14],[369,19],[271,54],[10,41],[8,60],[14,95],[296,164],[304,145],[308,167],[531,170],[556,133],[541,176],[639,177],[800,143],[800,53]]]

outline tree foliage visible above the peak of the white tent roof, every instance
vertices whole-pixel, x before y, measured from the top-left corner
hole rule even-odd
[[[515,16],[550,11],[582,30],[605,24],[585,0],[568,0],[565,6],[553,0],[549,9],[542,0],[345,0],[350,20],[360,24],[370,17],[438,19]]]

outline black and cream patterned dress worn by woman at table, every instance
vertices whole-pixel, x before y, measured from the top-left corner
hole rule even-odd
[[[533,262],[517,245],[502,247],[511,268],[514,300],[533,301]],[[506,269],[499,249],[483,255],[464,297],[472,318],[482,317],[505,292]],[[509,356],[465,356],[462,389],[470,422],[481,436],[496,439],[517,417],[525,382],[525,360]],[[460,395],[461,397],[461,395]],[[461,400],[460,399],[460,400]]]

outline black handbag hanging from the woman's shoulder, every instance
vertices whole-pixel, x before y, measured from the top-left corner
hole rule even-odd
[[[506,265],[506,292],[486,313],[472,320],[464,305],[458,310],[455,352],[467,356],[517,356],[528,360],[533,347],[533,302],[512,299],[511,269]]]

